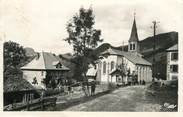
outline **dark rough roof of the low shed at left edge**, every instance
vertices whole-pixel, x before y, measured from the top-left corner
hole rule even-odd
[[[23,78],[9,78],[4,82],[4,93],[15,91],[32,91],[35,88]]]

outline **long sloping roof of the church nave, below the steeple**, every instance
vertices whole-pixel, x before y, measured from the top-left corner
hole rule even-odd
[[[109,48],[108,50],[106,50],[105,52],[102,53],[102,55],[105,55],[105,54],[124,56],[126,59],[128,59],[129,61],[131,61],[134,64],[141,64],[141,65],[148,65],[148,66],[152,65],[147,60],[138,56],[138,54],[135,54],[132,52],[119,51],[116,49]]]

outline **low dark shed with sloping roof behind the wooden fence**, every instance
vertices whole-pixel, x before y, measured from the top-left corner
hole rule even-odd
[[[4,106],[18,102],[27,102],[39,97],[36,89],[23,78],[5,80],[3,88]]]

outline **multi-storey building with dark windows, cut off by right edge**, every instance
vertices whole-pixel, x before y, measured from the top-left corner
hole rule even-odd
[[[178,79],[178,44],[167,49],[167,80]]]

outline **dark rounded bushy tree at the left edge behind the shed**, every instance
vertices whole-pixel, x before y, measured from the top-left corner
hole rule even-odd
[[[25,50],[18,43],[8,41],[4,43],[4,80],[17,77],[21,71],[20,67],[25,63],[27,57]]]

